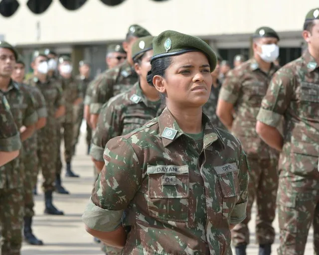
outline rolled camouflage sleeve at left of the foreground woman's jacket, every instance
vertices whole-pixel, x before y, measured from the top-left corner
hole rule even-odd
[[[82,220],[93,230],[112,232],[141,186],[143,167],[132,145],[121,136],[107,143],[104,160]]]

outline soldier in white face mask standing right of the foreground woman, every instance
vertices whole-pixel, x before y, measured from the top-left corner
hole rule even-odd
[[[256,133],[256,117],[270,79],[278,70],[272,62],[278,57],[279,36],[270,27],[260,27],[253,34],[254,56],[231,70],[220,90],[217,116],[239,138],[251,168],[247,218],[232,230],[237,255],[246,254],[249,244],[248,222],[256,198],[256,239],[260,255],[270,255],[275,240],[272,222],[275,218],[278,188],[278,152],[269,147]],[[236,118],[233,112],[236,108]]]

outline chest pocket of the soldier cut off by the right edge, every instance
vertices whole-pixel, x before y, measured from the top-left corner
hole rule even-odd
[[[319,84],[303,82],[300,86],[301,114],[309,118],[319,116]]]

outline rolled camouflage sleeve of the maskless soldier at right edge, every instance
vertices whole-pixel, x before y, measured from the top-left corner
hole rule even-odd
[[[288,68],[277,71],[262,101],[257,121],[275,128],[280,124],[293,95],[294,80],[295,76]]]

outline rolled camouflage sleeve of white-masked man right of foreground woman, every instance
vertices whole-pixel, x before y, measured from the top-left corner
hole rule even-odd
[[[231,70],[222,84],[218,98],[234,105],[239,97],[240,87],[240,77],[236,70]]]

